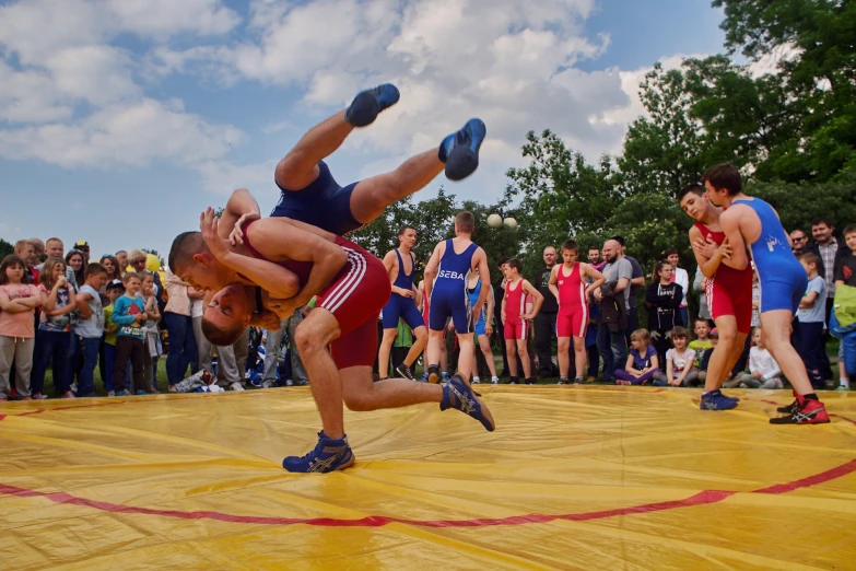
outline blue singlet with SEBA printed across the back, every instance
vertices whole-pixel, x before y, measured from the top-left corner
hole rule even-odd
[[[458,333],[472,333],[467,280],[472,268],[472,256],[478,247],[476,244],[470,244],[462,253],[456,254],[453,240],[446,241],[446,252],[439,260],[437,277],[434,280],[434,288],[431,290],[429,305],[429,327],[431,329],[443,330],[446,326],[446,317],[450,315]]]

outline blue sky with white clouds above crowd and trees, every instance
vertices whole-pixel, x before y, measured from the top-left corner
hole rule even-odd
[[[551,128],[617,152],[655,61],[723,50],[707,0],[33,0],[0,2],[0,237],[155,248],[239,186],[267,213],[273,165],[359,89],[401,102],[330,160],[341,184],[479,116],[490,201]]]

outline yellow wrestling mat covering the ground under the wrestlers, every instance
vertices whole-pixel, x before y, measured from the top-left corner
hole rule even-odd
[[[856,394],[485,386],[348,412],[356,465],[291,475],[308,389],[3,403],[2,569],[856,569]]]

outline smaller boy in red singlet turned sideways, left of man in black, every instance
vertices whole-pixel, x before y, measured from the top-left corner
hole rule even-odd
[[[502,322],[505,325],[505,348],[508,353],[508,369],[512,373],[511,384],[517,384],[517,354],[524,368],[524,377],[527,385],[533,385],[532,363],[529,361],[529,350],[526,347],[529,334],[529,323],[535,319],[544,301],[541,292],[536,290],[528,280],[523,279],[520,272],[523,264],[517,258],[508,260],[505,266],[505,295],[502,299]],[[535,300],[532,311],[526,312],[526,295]]]

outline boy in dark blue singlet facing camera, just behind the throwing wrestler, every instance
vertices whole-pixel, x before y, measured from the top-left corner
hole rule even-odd
[[[396,368],[396,373],[404,378],[414,381],[413,365],[427,343],[427,330],[422,322],[422,314],[417,307],[419,290],[413,286],[413,273],[417,270],[417,258],[411,249],[417,244],[417,230],[413,226],[401,226],[398,231],[399,246],[387,252],[384,256],[384,266],[392,282],[392,293],[384,305],[384,338],[380,341],[380,350],[377,354],[377,373],[380,380],[389,376],[389,353],[392,342],[398,335],[398,321],[403,319],[413,331],[417,340],[410,347],[404,362]]]

